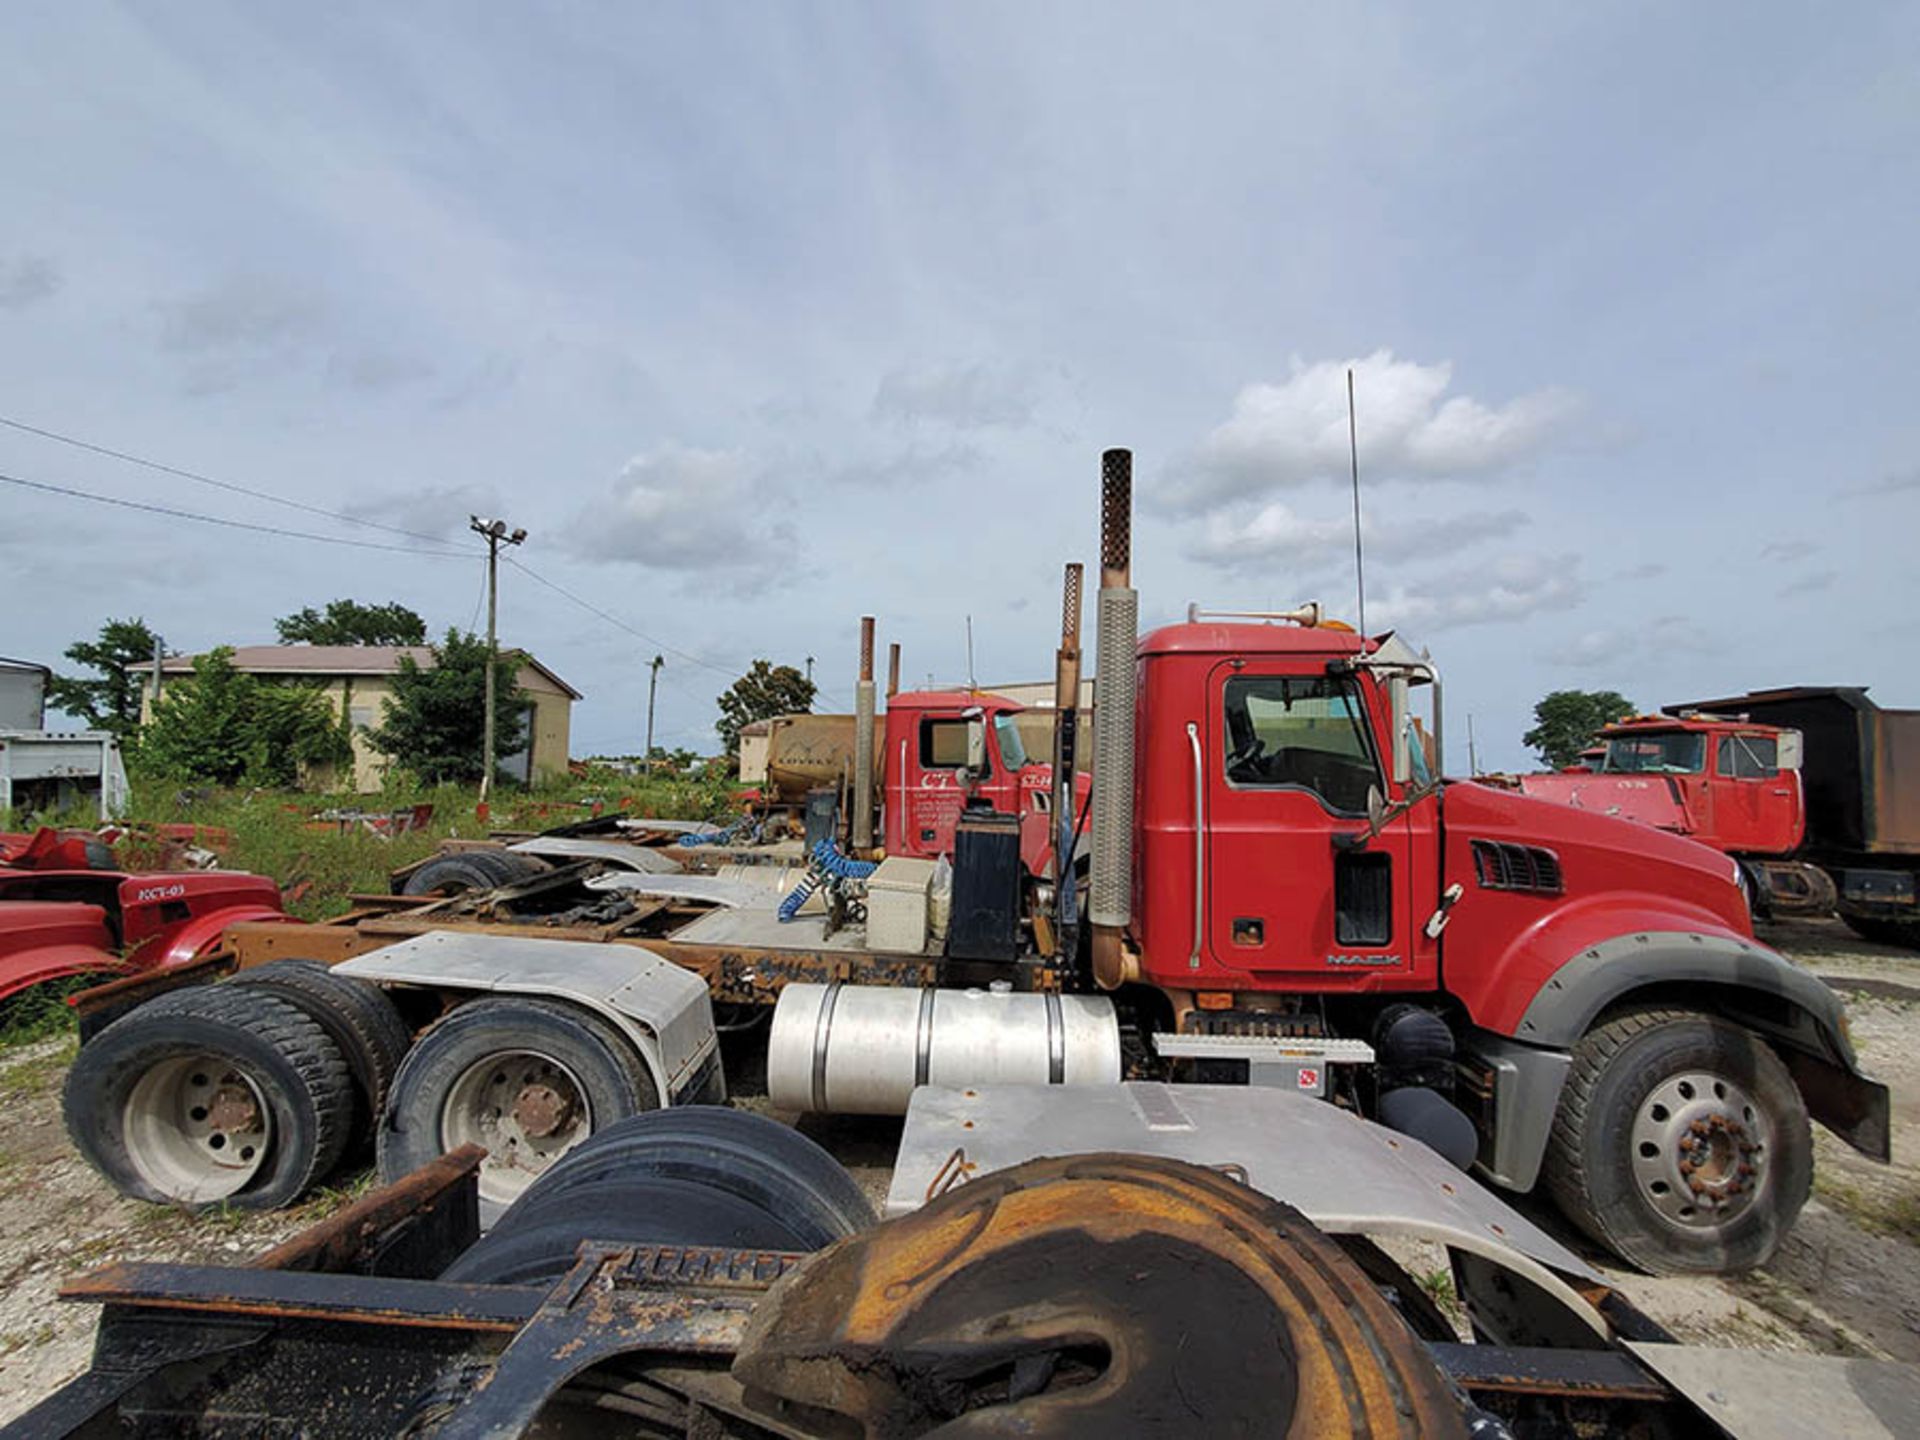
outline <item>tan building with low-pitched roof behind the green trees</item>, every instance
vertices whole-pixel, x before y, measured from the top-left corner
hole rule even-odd
[[[236,670],[255,676],[317,682],[336,710],[346,712],[353,726],[353,789],[380,789],[390,760],[367,739],[386,718],[386,697],[394,689],[399,659],[411,655],[415,664],[432,666],[434,653],[426,645],[240,645],[232,653]],[[566,776],[566,745],[572,726],[572,707],[580,691],[553,674],[526,651],[518,655],[518,685],[528,701],[528,745],[518,755],[501,756],[499,768],[540,783]],[[159,664],[161,685],[167,676],[194,672],[192,655],[175,655]],[[142,701],[142,710],[150,701]],[[315,783],[332,783],[332,776],[315,776]]]

